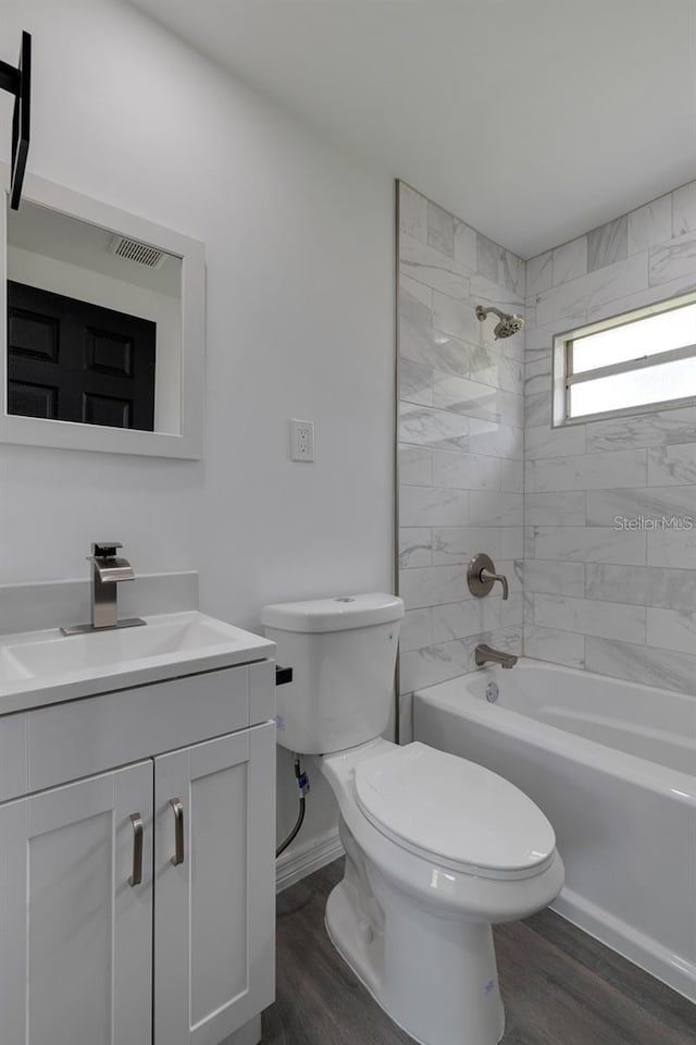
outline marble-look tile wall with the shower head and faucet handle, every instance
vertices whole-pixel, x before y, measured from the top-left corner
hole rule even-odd
[[[399,592],[402,739],[408,694],[473,668],[488,641],[522,648],[524,340],[495,341],[493,317],[524,305],[524,263],[399,184]],[[597,253],[613,249],[600,239]],[[569,263],[571,263],[569,261]],[[507,574],[478,600],[467,564]]]

